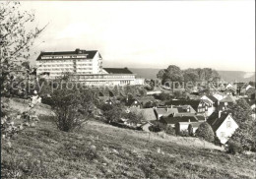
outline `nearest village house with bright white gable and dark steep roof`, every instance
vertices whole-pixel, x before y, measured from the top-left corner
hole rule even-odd
[[[231,114],[225,111],[223,112],[222,110],[213,113],[207,122],[212,126],[216,136],[223,145],[238,128],[238,124],[232,118]]]

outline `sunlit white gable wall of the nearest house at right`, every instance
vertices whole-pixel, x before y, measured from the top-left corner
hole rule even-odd
[[[220,139],[221,143],[225,144],[237,128],[238,125],[236,122],[230,115],[228,115],[223,124],[216,131],[216,135]]]

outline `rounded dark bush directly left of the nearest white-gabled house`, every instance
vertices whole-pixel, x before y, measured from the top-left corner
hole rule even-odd
[[[213,128],[207,122],[200,124],[196,130],[196,136],[211,143],[215,140],[215,133]]]

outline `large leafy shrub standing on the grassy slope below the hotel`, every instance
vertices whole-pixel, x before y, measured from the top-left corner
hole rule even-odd
[[[57,128],[65,132],[81,128],[90,117],[93,97],[91,90],[82,92],[77,89],[54,90],[52,109],[56,115]]]

